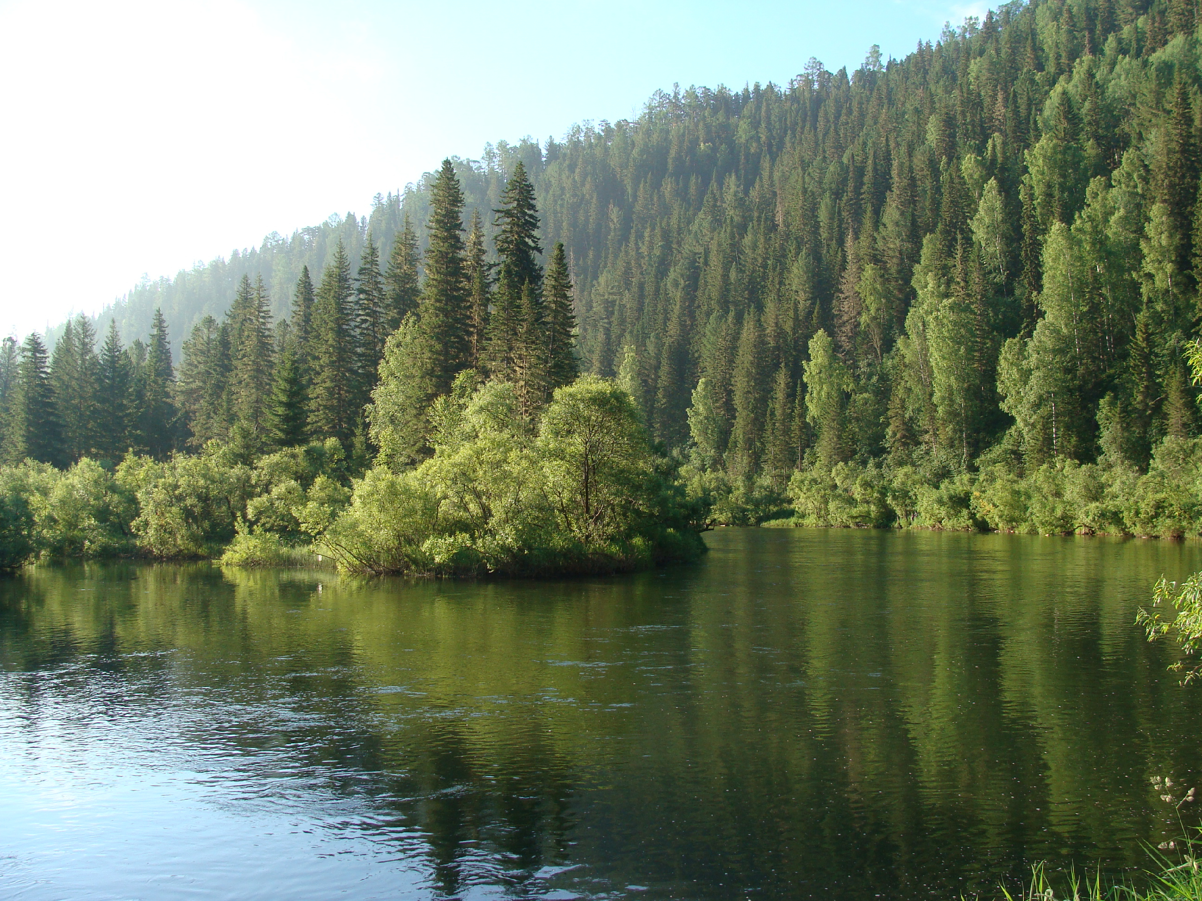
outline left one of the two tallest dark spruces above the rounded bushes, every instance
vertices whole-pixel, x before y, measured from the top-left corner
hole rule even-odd
[[[430,244],[426,251],[426,285],[418,306],[423,363],[435,394],[446,394],[470,362],[468,345],[468,265],[463,243],[463,191],[451,160],[430,191]]]

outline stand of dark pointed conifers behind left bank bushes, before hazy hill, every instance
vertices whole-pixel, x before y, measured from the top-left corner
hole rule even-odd
[[[577,375],[572,285],[563,245],[545,278],[520,162],[501,199],[496,265],[478,215],[465,238],[463,191],[444,162],[424,255],[407,219],[386,263],[370,232],[357,267],[339,243],[316,285],[302,268],[290,316],[279,320],[263,279],[243,275],[221,321],[204,316],[192,327],[178,368],[157,311],[149,341],[129,347],[114,321],[97,347],[83,316],[65,326],[53,356],[37,334],[19,347],[8,339],[0,348],[5,459],[163,459],[212,441],[251,459],[335,438],[362,469],[376,449],[368,417],[375,425],[404,414],[415,423],[405,458],[416,460],[427,452],[427,410],[468,369],[512,382],[534,414]],[[391,368],[381,366],[386,354]]]

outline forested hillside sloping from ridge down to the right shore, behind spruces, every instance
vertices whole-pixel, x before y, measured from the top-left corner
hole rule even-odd
[[[481,347],[498,329],[535,347],[545,340],[531,338],[545,326],[543,267],[555,269],[560,290],[575,286],[579,369],[617,377],[654,436],[688,461],[692,490],[733,520],[791,505],[814,523],[1018,527],[1034,514],[1011,521],[999,509],[1035,503],[1043,489],[1030,479],[1041,471],[1053,494],[1082,495],[1077,513],[1120,490],[1113,473],[1138,479],[1177,466],[1177,478],[1196,454],[1182,442],[1198,420],[1185,359],[1202,265],[1196,26],[1188,0],[1014,2],[900,61],[874,48],[856,71],[832,73],[810,60],[787,85],[677,89],[635,121],[576,127],[545,147],[499,144],[483,161],[452,161],[377,198],[363,220],[273,235],[139,286],[101,317],[115,329],[99,357],[87,323],[59,339],[48,370],[36,340],[19,354],[7,347],[6,453],[161,457],[242,428],[274,446],[358,436],[364,460],[417,463],[428,453],[419,437],[388,441],[426,428],[424,412],[416,425],[393,422],[389,438],[362,411],[387,381],[380,329],[409,311],[418,329],[417,299],[440,291],[439,228],[445,238],[458,223],[434,223],[434,189],[453,174],[453,215],[471,233],[471,300],[448,315],[475,317]],[[505,223],[519,163],[532,185],[522,213],[532,256],[514,275],[525,251],[505,244]],[[322,296],[343,298],[334,306],[350,344],[338,352],[357,360],[343,370],[296,345]],[[364,318],[375,314],[363,303],[376,304],[377,321]],[[487,321],[499,312],[520,322]],[[239,345],[246,316],[255,351]],[[123,339],[135,336],[119,364]],[[261,363],[250,387],[239,353]],[[519,388],[535,365],[454,353]],[[549,358],[538,359],[526,416],[564,383],[547,381]],[[397,365],[393,388],[418,378]],[[108,375],[75,375],[89,366]],[[79,411],[103,406],[97,399],[115,390],[106,380],[123,366],[141,386],[125,432],[40,435],[42,407],[47,422],[58,411],[69,436],[87,430],[72,422],[119,422]],[[422,389],[423,404],[450,389],[452,370]],[[38,380],[48,388],[35,404]],[[81,399],[89,383],[99,393]],[[346,407],[332,419],[315,398],[334,394]],[[389,396],[393,407],[404,400]],[[1077,464],[1096,464],[1088,484],[1064,482]],[[986,472],[988,490],[975,481]],[[921,487],[936,499],[926,512]],[[1070,519],[1063,525],[1176,529]]]

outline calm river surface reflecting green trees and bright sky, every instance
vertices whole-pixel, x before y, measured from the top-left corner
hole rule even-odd
[[[1149,863],[1192,543],[722,530],[551,583],[0,580],[6,899],[954,897]],[[1196,821],[1186,810],[1186,822]]]

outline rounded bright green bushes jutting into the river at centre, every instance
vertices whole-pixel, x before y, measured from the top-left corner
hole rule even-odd
[[[689,559],[701,509],[657,455],[630,395],[581,378],[537,436],[517,389],[462,374],[430,413],[434,455],[370,470],[320,545],[351,571],[439,575],[615,572]],[[531,440],[534,437],[534,440]]]

